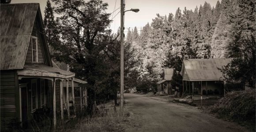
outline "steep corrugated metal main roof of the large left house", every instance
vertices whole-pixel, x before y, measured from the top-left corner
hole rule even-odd
[[[39,4],[0,4],[0,70],[23,69]]]

